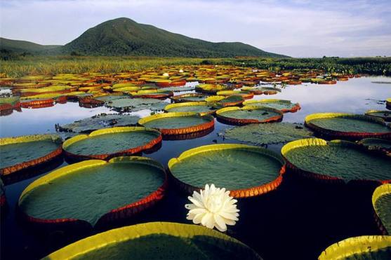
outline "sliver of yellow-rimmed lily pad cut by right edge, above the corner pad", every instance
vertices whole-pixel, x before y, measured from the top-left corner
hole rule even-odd
[[[376,188],[372,204],[385,231],[391,234],[391,184],[383,184]]]

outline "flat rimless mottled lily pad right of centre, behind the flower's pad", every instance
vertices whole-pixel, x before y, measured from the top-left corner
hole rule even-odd
[[[256,145],[291,142],[312,136],[312,132],[297,123],[263,123],[230,128],[221,133],[228,139]]]

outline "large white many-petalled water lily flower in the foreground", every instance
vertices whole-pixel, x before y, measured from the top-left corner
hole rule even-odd
[[[189,212],[187,219],[194,224],[200,224],[207,228],[216,228],[226,231],[227,225],[233,226],[239,219],[237,200],[230,196],[230,191],[225,188],[216,188],[214,184],[205,185],[205,189],[199,193],[194,191],[193,196],[188,197],[192,204],[186,204]]]

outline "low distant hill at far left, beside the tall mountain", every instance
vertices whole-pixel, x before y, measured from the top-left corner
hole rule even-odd
[[[31,41],[18,41],[0,37],[0,49],[10,50],[15,53],[54,53],[60,50],[60,45],[41,45]]]

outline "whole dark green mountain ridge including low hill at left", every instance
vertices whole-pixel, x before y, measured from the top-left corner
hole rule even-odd
[[[37,54],[138,55],[161,57],[287,57],[267,53],[245,43],[212,43],[174,34],[128,18],[102,22],[65,46],[42,46],[1,38],[0,48]]]

